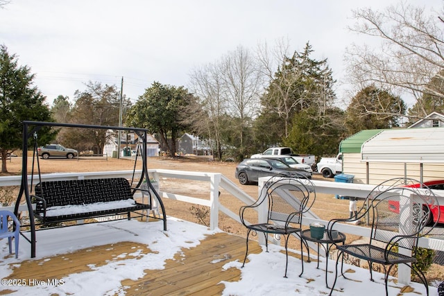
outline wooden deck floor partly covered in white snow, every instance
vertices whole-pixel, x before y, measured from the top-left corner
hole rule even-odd
[[[19,259],[0,241],[0,294],[10,295],[327,295],[325,264],[305,263],[292,251],[288,278],[282,247],[262,252],[252,241],[245,268],[241,268],[245,238],[211,231],[202,225],[169,218],[162,222],[118,220],[80,227],[37,232],[37,256],[20,241]],[[294,238],[290,238],[294,239]],[[304,255],[306,256],[306,254]],[[306,259],[306,257],[305,257]],[[322,260],[325,260],[321,258]],[[329,263],[329,282],[334,262]],[[383,295],[383,275],[346,265],[352,281],[339,278],[334,295]],[[390,295],[422,295],[424,286],[389,284]],[[438,295],[430,288],[430,295]]]

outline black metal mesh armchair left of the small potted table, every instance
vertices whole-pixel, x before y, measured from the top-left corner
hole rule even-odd
[[[300,239],[302,215],[310,209],[315,198],[314,184],[308,179],[303,177],[271,177],[264,185],[262,193],[256,202],[241,207],[239,210],[241,222],[248,229],[246,252],[242,267],[244,267],[248,256],[248,239],[250,234],[253,233],[253,236],[257,235],[257,232],[264,234],[266,252],[268,252],[268,234],[273,235],[278,240],[280,236],[284,236],[287,260],[284,277],[287,277],[289,237],[291,234],[295,234]],[[257,210],[260,207],[266,207],[266,217],[264,217],[264,220],[259,220],[256,224],[248,223],[246,218],[252,216],[253,210]],[[257,213],[254,214],[257,215]],[[300,241],[302,250],[302,243],[305,243],[305,241],[302,239]]]

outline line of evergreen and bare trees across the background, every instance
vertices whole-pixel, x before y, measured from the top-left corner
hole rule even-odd
[[[22,120],[117,125],[121,102],[123,124],[147,128],[171,155],[178,137],[188,132],[210,140],[216,159],[237,160],[278,145],[334,155],[341,140],[360,130],[400,127],[443,112],[441,17],[405,3],[353,13],[350,30],[381,40],[382,47],[352,44],[346,50],[347,77],[355,87],[347,102],[336,98],[328,60],[314,58],[309,42],[302,51],[290,51],[289,42],[280,39],[254,50],[238,46],[192,69],[188,87],[153,82],[134,104],[115,85],[87,82],[74,93],[74,103],[60,95],[50,107],[33,87],[30,69],[20,67],[2,45],[2,171],[6,153],[21,146]],[[416,103],[408,108],[402,96]],[[59,130],[43,140],[99,153],[106,137],[104,131]]]

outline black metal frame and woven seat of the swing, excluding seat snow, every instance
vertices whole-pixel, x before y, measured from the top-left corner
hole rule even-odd
[[[37,215],[37,217],[35,216],[35,209],[33,209],[33,200],[32,197],[35,198],[35,196],[32,196],[32,190],[33,190],[33,179],[34,179],[34,168],[35,168],[35,164],[37,166],[37,176],[39,179],[39,186],[41,186],[40,190],[43,192],[43,185],[42,185],[42,176],[40,174],[40,162],[39,162],[39,158],[37,155],[37,132],[39,130],[41,130],[43,127],[59,127],[59,128],[89,128],[89,129],[101,129],[101,130],[126,130],[126,131],[133,131],[137,134],[137,136],[139,137],[139,143],[137,146],[137,153],[136,153],[136,157],[135,157],[135,165],[133,168],[133,176],[132,176],[132,180],[130,183],[128,183],[128,180],[124,180],[123,183],[128,183],[128,188],[124,188],[121,191],[123,193],[129,193],[129,195],[131,196],[131,198],[133,197],[133,194],[135,193],[135,191],[145,191],[146,194],[149,196],[148,198],[148,202],[149,204],[143,204],[143,203],[135,203],[135,206],[133,207],[134,211],[138,211],[141,209],[151,209],[152,206],[152,198],[155,198],[155,200],[157,200],[158,205],[160,206],[160,208],[162,209],[162,218],[159,216],[158,219],[162,219],[163,220],[163,229],[164,231],[167,230],[167,216],[165,214],[165,209],[164,209],[164,204],[160,198],[160,195],[157,193],[157,191],[155,190],[155,188],[153,187],[153,184],[151,184],[150,182],[150,178],[148,177],[148,167],[147,167],[147,158],[146,158],[146,139],[147,139],[147,135],[148,135],[148,131],[146,129],[143,128],[126,128],[126,127],[116,127],[116,126],[103,126],[103,125],[81,125],[81,124],[70,124],[70,123],[51,123],[51,122],[40,122],[40,121],[23,121],[23,141],[22,141],[22,149],[23,149],[23,156],[22,156],[22,182],[20,185],[20,189],[19,189],[19,193],[17,195],[17,201],[15,202],[15,215],[18,215],[18,211],[19,211],[19,204],[22,200],[23,195],[25,196],[26,199],[26,204],[27,204],[27,208],[28,208],[28,213],[29,213],[29,220],[30,220],[30,224],[26,225],[28,227],[30,227],[29,232],[31,233],[31,239],[24,236],[24,238],[31,243],[31,257],[35,257],[35,245],[36,245],[36,238],[35,238],[35,218],[39,218],[39,216]],[[33,139],[33,164],[32,164],[32,170],[31,170],[31,184],[28,183],[28,155],[27,155],[27,151],[28,151],[28,141],[30,139]],[[138,155],[141,156],[142,159],[142,173],[140,174],[140,177],[138,179],[138,181],[136,181],[135,184],[137,184],[134,188],[130,187],[129,184],[133,184],[133,181],[135,180],[135,174],[136,174],[136,168],[137,168],[137,159],[138,159]],[[114,188],[114,182],[115,183],[121,183],[121,180],[123,180],[123,178],[114,178],[114,179],[102,179],[100,181],[103,180],[108,180],[105,182],[101,182],[102,187],[109,187],[109,186],[113,186],[112,189],[105,189],[107,190],[107,194],[110,195],[116,195],[119,194],[118,193],[109,193],[109,191],[116,191],[116,189]],[[112,180],[112,181],[110,181]],[[75,182],[75,181],[86,181],[86,180],[69,180],[69,181],[54,181],[54,182]],[[91,180],[90,180],[91,181]],[[43,182],[44,183],[44,182]],[[49,182],[46,182],[49,183]],[[142,189],[142,184],[145,184],[148,186],[147,189]],[[66,184],[64,184],[65,186]],[[94,193],[89,193],[89,192],[85,192],[85,190],[87,189],[87,186],[90,185],[85,185],[85,184],[76,184],[76,186],[79,186],[80,188],[76,188],[76,189],[80,189],[81,194],[83,195],[94,195]],[[119,186],[119,184],[117,184],[116,186]],[[31,188],[31,189],[30,189]],[[145,187],[146,188],[146,187]],[[45,189],[46,190],[46,189]],[[49,189],[48,189],[49,190]],[[37,191],[37,185],[35,186],[35,192]],[[118,190],[119,191],[119,188]],[[128,192],[127,192],[128,191]],[[153,194],[154,196],[152,196],[151,194]],[[92,197],[93,199],[97,199],[98,197],[94,196]],[[40,207],[44,207],[44,218],[51,218],[51,217],[46,217],[46,201],[41,198],[41,202],[40,204],[37,203],[37,207],[40,205]],[[149,206],[149,207],[148,207]],[[126,208],[125,208],[126,209]],[[121,210],[121,209],[120,209]],[[120,212],[123,212],[126,210],[121,210]],[[111,216],[112,215],[112,211],[101,211],[99,213],[95,213],[96,216]],[[148,213],[148,212],[147,212]],[[78,217],[78,219],[83,219],[86,218],[85,214],[83,214],[83,216],[71,216],[69,218],[62,217],[65,218],[65,220],[62,221],[67,221],[67,220],[76,220],[76,218]],[[41,218],[41,217],[40,217]],[[130,210],[128,210],[128,219],[130,218]],[[157,217],[155,217],[157,218]]]

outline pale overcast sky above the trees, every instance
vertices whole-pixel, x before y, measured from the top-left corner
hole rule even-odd
[[[395,0],[10,0],[0,9],[0,44],[31,67],[48,103],[74,97],[89,80],[117,85],[133,102],[154,81],[189,86],[189,73],[241,45],[310,42],[343,80],[343,53],[363,38],[347,30],[351,10]],[[441,10],[442,0],[409,0]],[[371,41],[368,41],[371,42]],[[346,87],[338,86],[339,96]],[[342,98],[340,98],[342,99]]]

